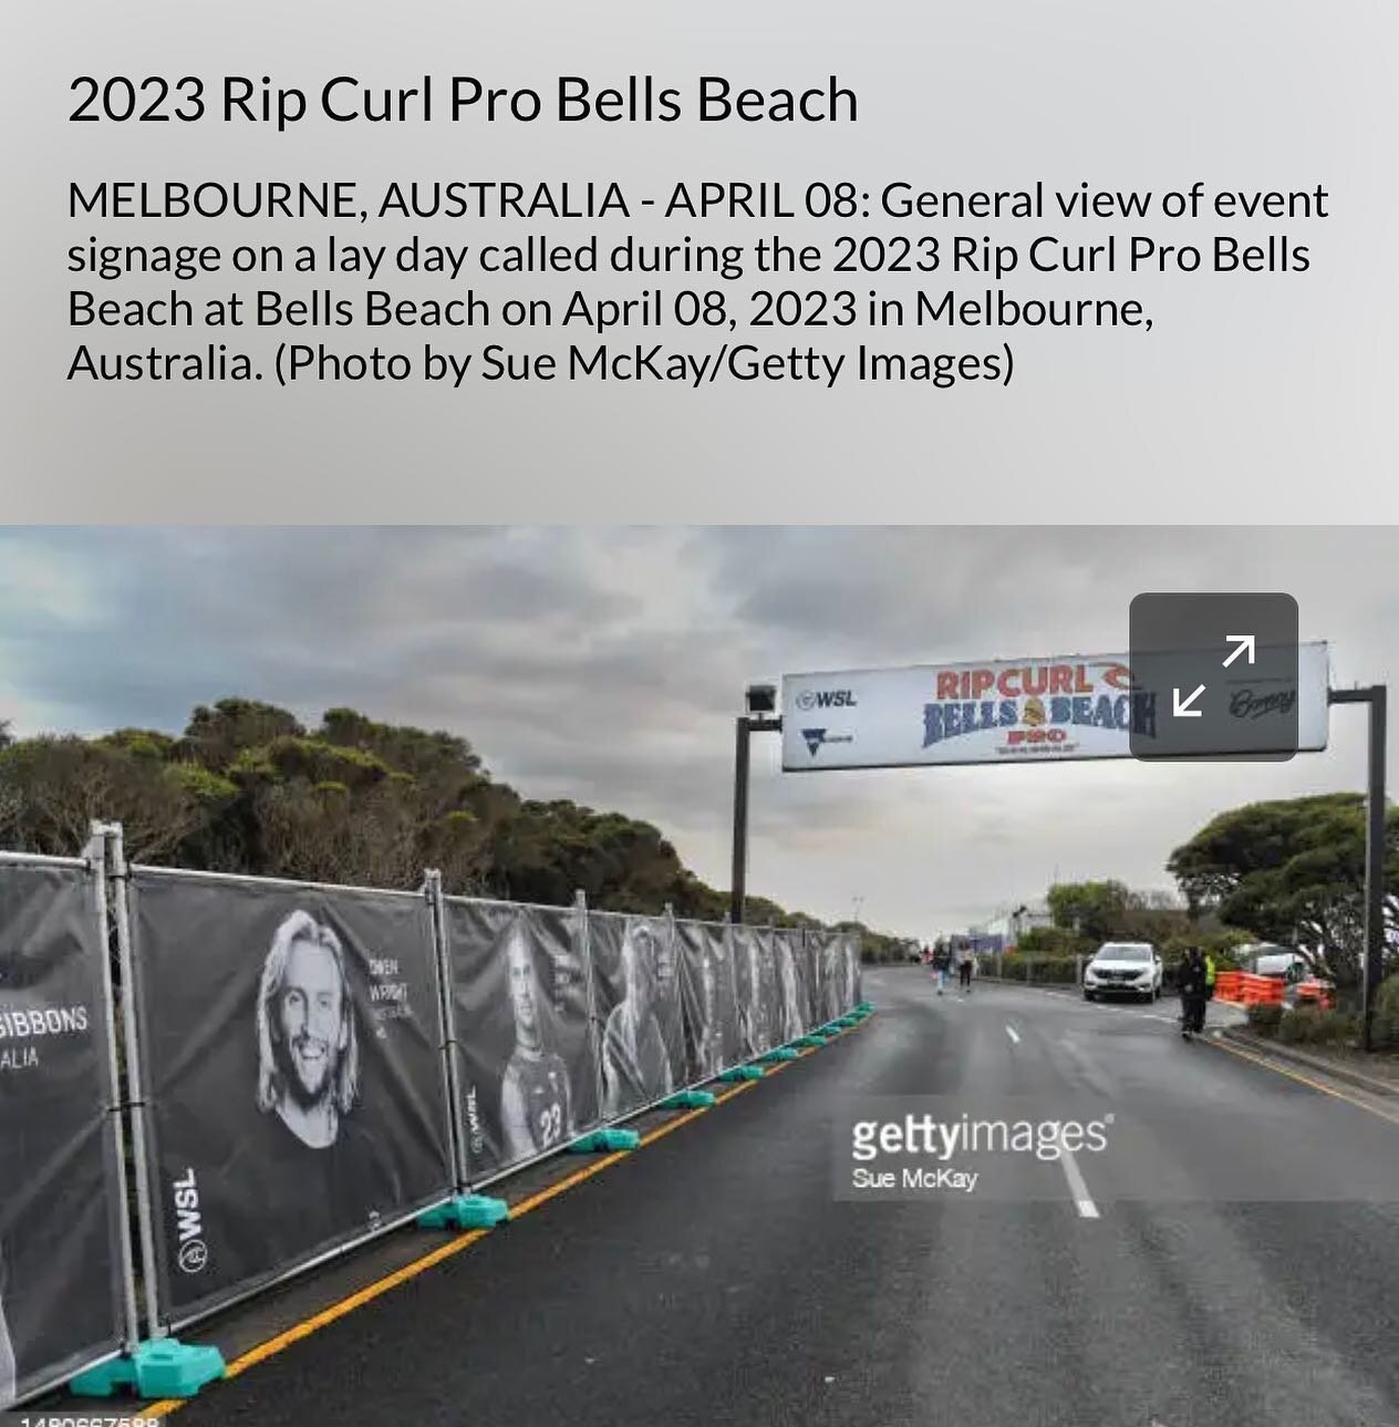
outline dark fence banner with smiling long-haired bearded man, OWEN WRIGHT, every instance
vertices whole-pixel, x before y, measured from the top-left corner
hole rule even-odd
[[[424,896],[133,872],[164,1313],[449,1193]]]

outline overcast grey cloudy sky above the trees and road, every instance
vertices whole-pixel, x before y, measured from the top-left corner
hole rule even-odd
[[[806,669],[1117,652],[1148,589],[1286,589],[1333,684],[1399,668],[1389,529],[0,531],[0,718],[178,732],[240,694],[465,735],[496,778],[659,825],[729,885],[733,715]],[[1399,721],[1395,721],[1399,722]],[[749,885],[930,936],[1064,878],[1168,886],[1214,812],[1363,786],[1365,716],[1286,765],[784,776],[754,743]],[[1393,725],[1392,725],[1393,726]],[[1395,766],[1392,739],[1389,756]]]

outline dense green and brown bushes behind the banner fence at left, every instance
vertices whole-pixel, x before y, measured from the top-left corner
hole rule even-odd
[[[13,739],[0,721],[0,846],[71,856],[93,818],[121,823],[127,856],[157,866],[448,892],[723,920],[707,886],[652,823],[493,779],[468,739],[379,723],[348,708],[305,726],[287,709],[227,698],[183,733]],[[757,925],[824,923],[750,896]],[[903,942],[857,922],[866,959]]]

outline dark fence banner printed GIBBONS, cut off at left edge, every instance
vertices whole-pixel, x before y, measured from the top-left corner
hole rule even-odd
[[[120,1344],[100,872],[0,862],[0,1406]]]

